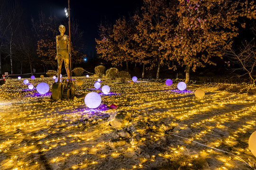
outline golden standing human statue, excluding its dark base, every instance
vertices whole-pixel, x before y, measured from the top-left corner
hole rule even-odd
[[[60,35],[56,36],[56,48],[57,48],[57,55],[55,59],[58,59],[58,81],[60,82],[60,74],[61,74],[61,67],[62,62],[64,60],[65,69],[67,72],[68,80],[70,79],[70,72],[69,72],[69,55],[70,54],[70,46],[69,46],[69,36],[65,35],[65,26],[60,25],[59,31]]]

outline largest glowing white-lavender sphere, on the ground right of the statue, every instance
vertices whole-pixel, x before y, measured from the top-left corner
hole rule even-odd
[[[89,108],[97,108],[101,105],[101,95],[96,92],[90,92],[84,97],[84,103]]]

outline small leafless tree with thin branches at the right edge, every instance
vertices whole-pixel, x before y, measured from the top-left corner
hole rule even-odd
[[[226,51],[229,59],[238,64],[239,68],[234,68],[234,71],[244,70],[246,73],[240,76],[249,75],[250,83],[255,85],[256,75],[253,69],[256,67],[256,46],[254,39],[251,42],[245,42],[237,51],[231,49]]]

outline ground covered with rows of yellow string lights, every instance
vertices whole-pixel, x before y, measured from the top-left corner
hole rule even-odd
[[[178,82],[101,78],[110,86],[105,95],[93,87],[98,77],[78,78],[83,85],[74,100],[53,101],[51,92],[29,90],[23,79],[0,86],[1,170],[254,169],[248,139],[256,130],[256,96],[218,91],[218,84],[179,91]],[[197,88],[206,93],[201,99]],[[89,92],[101,94],[99,108],[84,104]],[[114,128],[111,116],[121,111],[131,119]]]

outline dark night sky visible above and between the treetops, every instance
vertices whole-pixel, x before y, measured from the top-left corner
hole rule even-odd
[[[64,8],[68,8],[68,0],[18,0],[23,8],[28,22],[38,17],[38,12],[46,15],[51,13],[60,18],[65,18]],[[105,17],[114,24],[122,16],[133,14],[140,8],[143,0],[70,0],[71,18],[79,21],[80,28],[84,31],[84,40],[87,51],[94,51],[95,38],[98,36],[98,26]],[[30,23],[28,23],[30,24]],[[66,34],[68,34],[66,32]],[[72,38],[72,37],[71,37]]]

